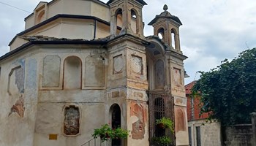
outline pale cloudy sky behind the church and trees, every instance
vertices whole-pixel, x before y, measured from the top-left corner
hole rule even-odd
[[[145,1],[148,4],[143,8],[146,24],[163,11],[164,4],[183,23],[180,27],[181,50],[189,57],[184,61],[184,67],[190,76],[186,83],[198,79],[197,71],[209,71],[225,58],[232,59],[241,51],[256,47],[255,0]],[[39,0],[0,2],[33,12]],[[0,55],[8,52],[8,44],[15,34],[24,30],[23,20],[27,15],[28,12],[0,4]],[[153,28],[146,25],[144,32],[146,36],[152,35]]]

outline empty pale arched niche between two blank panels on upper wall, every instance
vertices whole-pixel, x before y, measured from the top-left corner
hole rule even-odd
[[[81,89],[82,62],[77,56],[69,56],[64,60],[64,90]]]

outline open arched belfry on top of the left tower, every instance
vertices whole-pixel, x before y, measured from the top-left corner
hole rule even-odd
[[[143,36],[142,8],[143,0],[110,0],[110,34],[116,37],[121,34]],[[121,28],[119,31],[117,28]]]

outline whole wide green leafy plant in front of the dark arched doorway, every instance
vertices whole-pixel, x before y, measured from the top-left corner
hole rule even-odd
[[[110,128],[108,124],[102,125],[101,128],[94,129],[94,134],[91,135],[94,139],[100,137],[101,142],[108,141],[108,139],[125,139],[128,137],[128,131],[118,127],[116,129]]]

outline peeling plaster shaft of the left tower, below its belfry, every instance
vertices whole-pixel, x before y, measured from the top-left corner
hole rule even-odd
[[[121,107],[121,127],[129,131],[127,145],[149,145],[145,47],[117,42],[108,53],[107,104]]]

